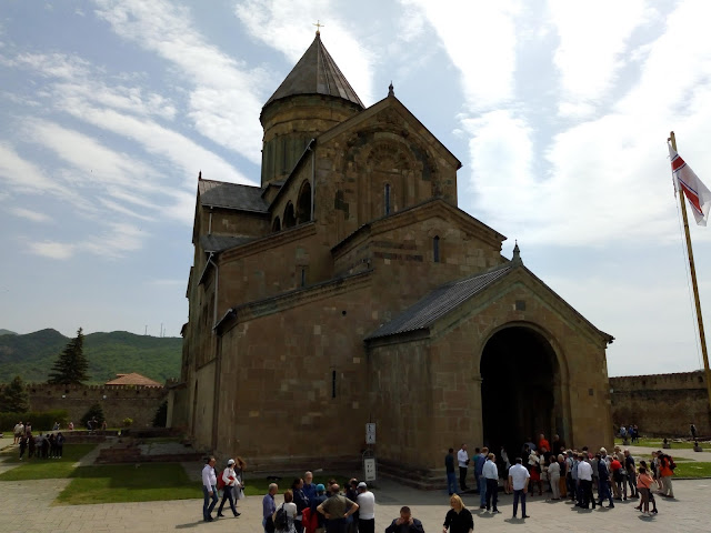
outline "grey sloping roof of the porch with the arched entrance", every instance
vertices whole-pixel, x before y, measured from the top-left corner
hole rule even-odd
[[[381,325],[365,340],[424,330],[478,292],[507,275],[512,269],[513,265],[507,263],[490,272],[441,285],[393,320]]]

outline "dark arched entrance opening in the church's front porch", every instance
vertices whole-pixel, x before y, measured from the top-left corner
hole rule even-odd
[[[494,333],[481,354],[483,442],[493,453],[504,446],[509,459],[523,443],[544,433],[563,433],[560,365],[538,331],[515,325]]]

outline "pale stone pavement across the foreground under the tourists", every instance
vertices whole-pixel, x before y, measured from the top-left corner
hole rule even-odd
[[[2,533],[52,532],[150,532],[189,530],[194,532],[261,532],[261,496],[248,496],[239,503],[240,517],[201,520],[202,499],[169,502],[114,503],[97,505],[52,504],[69,480],[0,482],[0,531]],[[511,496],[502,496],[498,515],[480,515],[479,496],[465,495],[474,512],[475,531],[485,532],[619,532],[643,527],[645,533],[669,531],[708,532],[710,480],[678,481],[677,500],[658,497],[659,514],[642,517],[632,507],[635,500],[619,502],[613,510],[577,510],[565,502],[529,501],[530,519],[511,520]],[[375,531],[382,532],[400,506],[409,505],[428,533],[441,531],[449,497],[443,491],[420,492],[383,480],[375,491]],[[229,512],[228,512],[229,515]]]

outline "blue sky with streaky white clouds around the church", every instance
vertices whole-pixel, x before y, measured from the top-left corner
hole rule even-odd
[[[259,112],[313,39],[463,162],[462,209],[615,336],[701,368],[667,137],[711,187],[703,1],[6,0],[0,328],[178,335],[198,171],[259,183]],[[711,333],[711,228],[691,228]]]

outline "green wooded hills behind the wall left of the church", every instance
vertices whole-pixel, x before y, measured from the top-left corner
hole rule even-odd
[[[0,383],[8,383],[16,375],[26,382],[46,382],[69,340],[51,329],[26,335],[0,335]],[[90,333],[84,335],[88,384],[106,383],[118,373],[129,372],[161,383],[168,378],[179,378],[181,350],[182,339],[176,336],[136,335],[127,331]]]

